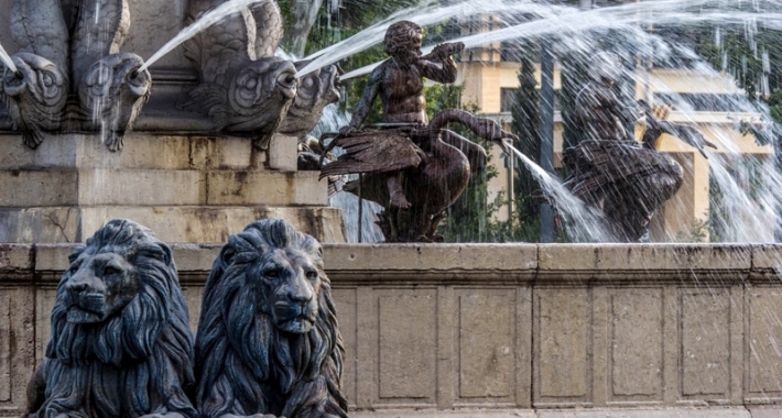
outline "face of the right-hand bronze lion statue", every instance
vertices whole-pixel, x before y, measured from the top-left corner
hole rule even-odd
[[[249,277],[257,280],[261,310],[278,329],[292,333],[312,330],[321,275],[307,253],[291,248],[270,251]]]

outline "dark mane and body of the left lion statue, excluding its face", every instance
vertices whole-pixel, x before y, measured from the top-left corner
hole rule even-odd
[[[72,274],[65,272],[43,367],[45,400],[32,416],[195,417],[185,395],[194,384],[193,334],[171,249],[146,228],[115,219],[69,261],[101,251],[122,254],[133,265],[138,294],[100,323],[70,323],[64,288]]]

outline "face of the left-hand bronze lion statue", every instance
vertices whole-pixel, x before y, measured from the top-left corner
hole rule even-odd
[[[83,253],[68,270],[64,301],[67,321],[102,322],[139,293],[133,265],[116,252]]]

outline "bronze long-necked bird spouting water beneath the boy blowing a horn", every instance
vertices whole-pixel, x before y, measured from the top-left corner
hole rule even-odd
[[[446,129],[452,122],[506,152],[504,140],[517,139],[491,119],[445,110],[427,125],[363,130],[338,138],[333,144],[343,147],[345,154],[324,165],[321,177],[367,173],[361,180],[361,197],[384,208],[378,224],[387,242],[442,241],[436,229],[445,218],[445,209],[465,190],[470,174],[486,167],[484,147]],[[389,176],[399,182],[399,191],[388,187]],[[359,182],[354,180],[345,189],[357,194],[358,186]],[[404,194],[409,207],[394,205],[393,193]]]

